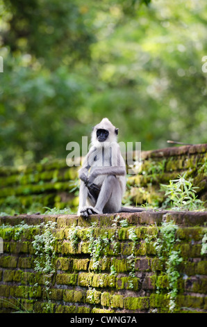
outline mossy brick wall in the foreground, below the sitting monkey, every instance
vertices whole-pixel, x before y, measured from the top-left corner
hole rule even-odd
[[[167,214],[167,215],[166,215]],[[207,312],[207,262],[201,255],[202,239],[206,234],[207,212],[146,211],[120,214],[128,226],[115,224],[115,214],[93,215],[88,221],[74,215],[19,215],[0,217],[3,253],[0,255],[0,310],[13,312],[11,303],[24,310],[47,312],[51,301],[52,312],[169,312],[169,289],[165,267],[155,248],[154,236],[160,229],[163,216],[173,220],[180,241],[183,262],[179,264],[178,295],[175,312]],[[19,223],[31,226],[15,237]],[[55,273],[51,277],[49,294],[45,294],[44,278],[34,270],[35,253],[32,245],[38,234],[35,226],[48,221],[56,222],[54,260]],[[109,243],[99,257],[99,270],[93,268],[88,230],[96,222],[94,237],[107,236]],[[69,232],[77,228],[73,247]],[[133,228],[138,241],[134,248],[134,276],[130,275],[129,255],[133,241],[129,231]],[[116,244],[113,242],[115,237]],[[111,273],[111,267],[115,274]],[[156,290],[160,289],[157,294]],[[2,301],[3,300],[3,301]]]

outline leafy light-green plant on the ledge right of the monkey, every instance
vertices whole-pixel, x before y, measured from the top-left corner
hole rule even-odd
[[[161,190],[165,191],[166,200],[163,207],[170,207],[176,210],[196,210],[203,205],[203,202],[197,199],[195,189],[190,180],[185,180],[186,173],[179,175],[176,180],[170,180],[168,185],[160,184]]]

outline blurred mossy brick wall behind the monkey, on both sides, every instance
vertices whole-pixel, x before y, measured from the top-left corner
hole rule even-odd
[[[19,214],[44,213],[44,207],[63,209],[70,207],[76,212],[78,206],[78,167],[67,166],[65,159],[34,163],[26,167],[0,168],[0,212],[10,207]],[[198,186],[198,196],[207,200],[207,144],[167,147],[142,151],[142,167],[128,180],[125,202],[132,205],[148,202],[159,206],[163,202],[160,183],[168,184],[178,174]]]

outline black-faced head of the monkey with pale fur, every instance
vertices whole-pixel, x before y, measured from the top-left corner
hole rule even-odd
[[[93,128],[92,131],[92,144],[99,147],[104,142],[117,142],[117,128],[108,120],[104,118],[101,122]]]

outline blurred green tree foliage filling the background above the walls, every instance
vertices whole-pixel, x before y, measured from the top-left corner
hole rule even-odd
[[[207,142],[205,0],[0,0],[0,8],[0,163],[66,157],[67,143],[81,144],[105,116],[120,141],[142,150],[170,138]]]

